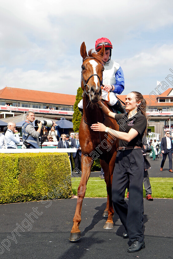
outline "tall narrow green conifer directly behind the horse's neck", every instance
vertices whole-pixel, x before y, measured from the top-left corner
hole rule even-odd
[[[73,120],[72,120],[74,132],[79,132],[79,126],[81,123],[82,116],[77,105],[82,99],[82,93],[83,93],[83,90],[81,87],[79,87],[77,89],[76,101],[74,103],[74,113],[73,113]]]

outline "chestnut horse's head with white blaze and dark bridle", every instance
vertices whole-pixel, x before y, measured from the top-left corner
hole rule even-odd
[[[104,50],[103,45],[99,52],[92,53],[92,50],[90,50],[87,55],[85,42],[81,45],[81,56],[83,58],[81,87],[92,104],[98,102],[101,95]]]

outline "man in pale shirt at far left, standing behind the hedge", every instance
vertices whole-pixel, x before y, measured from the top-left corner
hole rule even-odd
[[[7,148],[17,148],[17,144],[20,143],[18,131],[16,130],[16,123],[10,121],[7,125],[8,129],[5,134]]]

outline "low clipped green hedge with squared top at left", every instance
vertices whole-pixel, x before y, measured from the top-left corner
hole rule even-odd
[[[72,195],[67,153],[0,154],[0,204]]]

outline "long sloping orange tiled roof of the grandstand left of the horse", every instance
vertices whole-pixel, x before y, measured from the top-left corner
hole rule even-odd
[[[56,105],[74,105],[76,95],[5,87],[0,90],[0,99]]]

